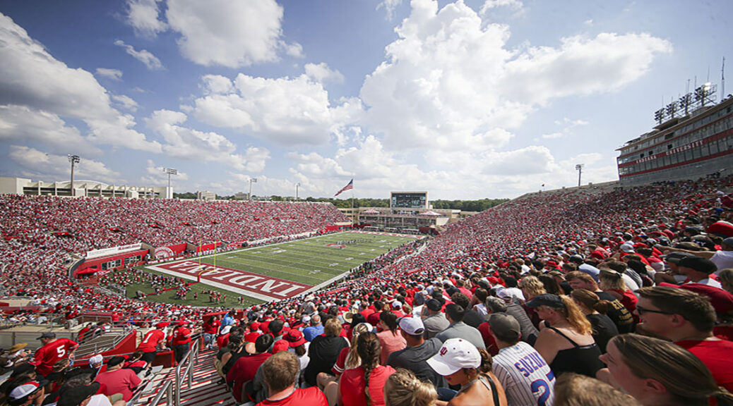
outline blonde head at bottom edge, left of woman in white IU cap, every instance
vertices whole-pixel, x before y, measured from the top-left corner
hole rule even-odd
[[[386,406],[435,406],[438,392],[432,383],[419,380],[408,369],[397,369],[384,385]]]

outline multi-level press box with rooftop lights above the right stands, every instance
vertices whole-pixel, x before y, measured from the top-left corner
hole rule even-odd
[[[714,91],[706,84],[658,110],[659,124],[651,132],[617,149],[622,186],[732,173],[733,97],[690,107],[693,97],[704,100]]]

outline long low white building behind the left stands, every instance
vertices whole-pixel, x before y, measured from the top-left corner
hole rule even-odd
[[[0,195],[161,199],[172,197],[173,189],[75,180],[72,191],[71,181],[44,182],[26,178],[0,177]]]

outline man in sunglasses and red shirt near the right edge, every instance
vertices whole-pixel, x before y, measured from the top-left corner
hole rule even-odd
[[[695,354],[718,386],[733,390],[733,342],[712,335],[715,309],[710,298],[679,287],[642,287],[636,311],[638,328],[670,339]]]

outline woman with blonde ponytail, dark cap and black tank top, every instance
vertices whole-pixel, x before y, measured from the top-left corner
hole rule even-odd
[[[534,343],[542,358],[556,375],[563,372],[595,377],[603,363],[600,348],[593,339],[591,323],[570,296],[550,293],[535,296],[526,306],[537,309],[544,320]]]

